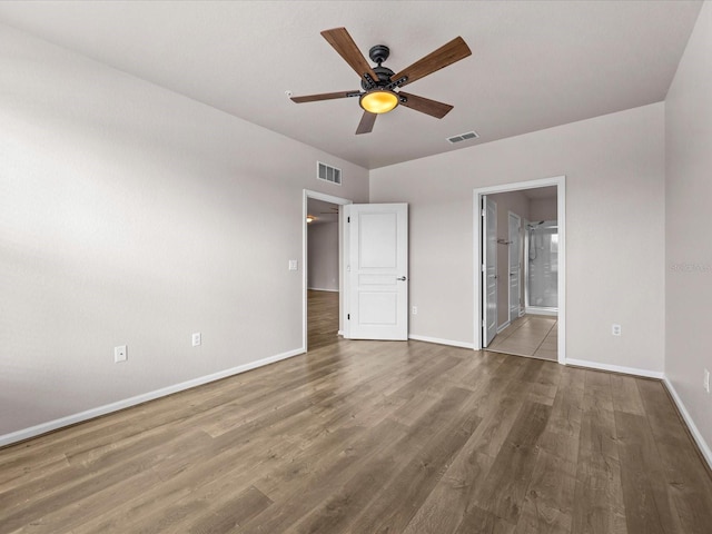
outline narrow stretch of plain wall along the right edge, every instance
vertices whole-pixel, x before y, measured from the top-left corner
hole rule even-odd
[[[712,4],[705,2],[665,100],[665,375],[712,463]]]

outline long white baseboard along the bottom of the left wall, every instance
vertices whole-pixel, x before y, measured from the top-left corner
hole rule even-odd
[[[274,364],[275,362],[279,362],[281,359],[291,358],[293,356],[297,356],[304,353],[305,353],[304,347],[297,348],[294,350],[289,350],[287,353],[278,354],[276,356],[270,356],[267,358],[258,359],[256,362],[250,362],[248,364],[239,365],[237,367],[233,367],[231,369],[220,370],[211,375],[206,375],[198,378],[194,378],[191,380],[181,382],[180,384],[162,387],[154,392],[144,393],[135,397],[125,398],[116,403],[106,404],[103,406],[98,406],[96,408],[87,409],[86,412],[68,415],[59,419],[49,421],[47,423],[41,423],[39,425],[31,426],[29,428],[23,428],[21,431],[12,432],[10,434],[4,434],[0,436],[0,447],[10,445],[12,443],[22,442],[31,437],[37,437],[41,434],[47,434],[48,432],[56,431],[65,426],[75,425],[77,423],[92,419],[101,415],[110,414],[112,412],[118,412],[119,409],[129,408],[131,406],[136,406],[137,404],[146,403],[148,400],[154,400],[159,397],[165,397],[166,395],[171,395],[174,393],[182,392],[185,389],[190,389],[191,387],[201,386],[210,382],[219,380],[221,378],[227,378],[228,376],[238,375],[240,373],[245,373],[247,370],[255,369],[264,365]]]

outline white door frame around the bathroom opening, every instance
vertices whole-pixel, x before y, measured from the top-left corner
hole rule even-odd
[[[537,180],[517,181],[500,186],[481,187],[473,190],[473,228],[474,228],[474,348],[482,350],[483,340],[483,288],[482,288],[482,197],[497,192],[520,191],[540,187],[556,186],[556,218],[558,221],[558,363],[566,364],[566,177],[555,176]]]

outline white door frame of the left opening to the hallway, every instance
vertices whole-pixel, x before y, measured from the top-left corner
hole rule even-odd
[[[308,339],[308,317],[307,317],[307,287],[308,287],[308,238],[307,238],[307,204],[309,198],[315,200],[322,200],[324,202],[336,204],[339,206],[338,210],[338,335],[344,334],[344,310],[346,309],[346,291],[344,290],[344,273],[345,273],[345,258],[344,254],[347,250],[345,244],[345,230],[344,230],[344,217],[342,217],[343,209],[340,206],[347,204],[354,204],[348,198],[335,197],[325,192],[313,191],[310,189],[304,189],[301,197],[301,349],[306,353],[309,347],[307,346]]]

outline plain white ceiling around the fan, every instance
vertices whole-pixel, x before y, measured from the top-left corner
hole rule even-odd
[[[671,1],[3,1],[0,22],[377,168],[665,98],[702,2]],[[456,36],[473,56],[408,86],[453,105],[444,119],[399,107],[355,136],[358,89],[319,36],[344,26],[397,71]],[[445,138],[476,130],[481,138]]]

